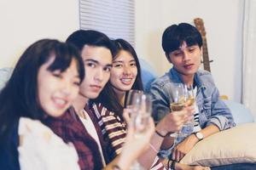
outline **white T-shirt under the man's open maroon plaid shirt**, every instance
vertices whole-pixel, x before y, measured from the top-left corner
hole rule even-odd
[[[101,145],[101,142],[100,142],[100,139],[98,137],[98,134],[96,132],[96,128],[93,124],[93,122],[91,121],[90,119],[90,116],[88,115],[88,113],[86,111],[83,110],[83,113],[84,113],[84,116],[86,117],[85,119],[81,116],[79,116],[81,122],[83,122],[84,124],[84,127],[86,128],[86,130],[88,131],[88,133],[90,133],[90,136],[96,140],[96,143],[98,144],[98,148],[100,150],[100,153],[101,153],[101,157],[102,157],[102,163],[103,163],[103,166],[105,167],[106,166],[106,162],[105,162],[105,159],[104,159],[104,156],[103,156],[103,152],[102,152],[102,145]]]

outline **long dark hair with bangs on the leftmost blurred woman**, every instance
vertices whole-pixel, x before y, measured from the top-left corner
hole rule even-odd
[[[15,122],[21,116],[43,120],[45,112],[38,100],[38,70],[55,56],[49,71],[66,71],[75,59],[80,82],[84,79],[84,64],[73,45],[57,40],[34,42],[20,56],[12,76],[0,93],[0,146],[8,145]]]

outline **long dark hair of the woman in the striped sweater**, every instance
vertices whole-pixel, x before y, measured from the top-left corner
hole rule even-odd
[[[143,90],[141,66],[140,66],[139,60],[137,58],[136,51],[134,50],[134,48],[132,48],[131,44],[129,42],[126,42],[124,39],[113,40],[113,43],[115,45],[114,58],[119,54],[119,52],[121,50],[125,50],[126,52],[130,53],[133,56],[133,58],[135,59],[135,62],[137,65],[137,77],[136,77],[135,82],[133,83],[131,89]],[[126,94],[127,93],[128,92],[126,92]],[[125,94],[125,97],[127,96],[126,94]],[[108,111],[113,111],[121,119],[123,119],[124,106],[121,105],[121,103],[117,97],[117,94],[113,90],[113,86],[111,85],[110,81],[108,81],[106,86],[102,89],[102,93],[99,95],[99,97],[97,99],[95,99],[95,101],[96,101],[96,103],[101,103],[106,108],[108,108]]]

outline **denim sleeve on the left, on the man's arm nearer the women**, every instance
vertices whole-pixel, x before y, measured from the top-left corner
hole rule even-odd
[[[166,114],[170,113],[170,95],[164,85],[157,83],[152,84],[150,94],[153,97],[154,122],[159,122]]]

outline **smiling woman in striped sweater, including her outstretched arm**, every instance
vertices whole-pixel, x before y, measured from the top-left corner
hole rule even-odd
[[[129,42],[123,39],[114,40],[117,48],[113,58],[111,77],[100,96],[93,101],[91,111],[98,117],[104,138],[110,139],[109,148],[112,159],[119,155],[125,141],[126,123],[123,117],[125,96],[131,89],[143,90],[141,70],[137,54]],[[179,130],[183,122],[189,119],[193,108],[179,111],[179,114],[169,114],[156,126],[156,133],[150,141],[150,149],[139,162],[146,169],[166,169],[168,165],[156,156],[165,136]],[[186,118],[184,118],[184,116]]]

